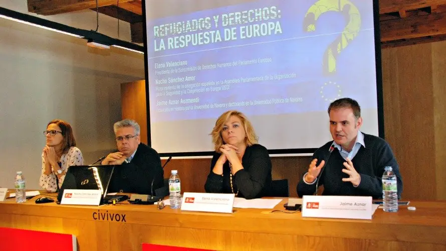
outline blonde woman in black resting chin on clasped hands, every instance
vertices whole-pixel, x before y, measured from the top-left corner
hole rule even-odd
[[[271,189],[271,159],[257,144],[258,137],[240,111],[221,114],[210,134],[215,146],[204,189],[208,193],[234,193],[246,199],[267,196]]]

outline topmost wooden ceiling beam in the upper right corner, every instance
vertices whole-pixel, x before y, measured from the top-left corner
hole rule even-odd
[[[379,14],[446,5],[446,0],[379,0]]]

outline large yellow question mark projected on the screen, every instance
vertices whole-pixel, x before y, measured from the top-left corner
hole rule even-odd
[[[347,45],[358,35],[361,28],[361,15],[355,5],[348,0],[319,0],[307,11],[304,19],[304,30],[313,32],[316,30],[318,18],[329,11],[340,12],[344,16],[347,25],[342,33],[327,48],[322,61],[324,74],[336,72],[336,58]]]

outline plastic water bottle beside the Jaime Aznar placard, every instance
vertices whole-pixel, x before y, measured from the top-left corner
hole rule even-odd
[[[392,171],[392,167],[385,167],[382,174],[382,200],[385,212],[398,211],[396,176]]]

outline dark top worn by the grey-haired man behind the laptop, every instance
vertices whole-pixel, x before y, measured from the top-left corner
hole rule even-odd
[[[158,153],[140,143],[130,163],[116,166],[108,192],[153,194],[163,186],[164,171]],[[153,188],[152,188],[153,181]]]

